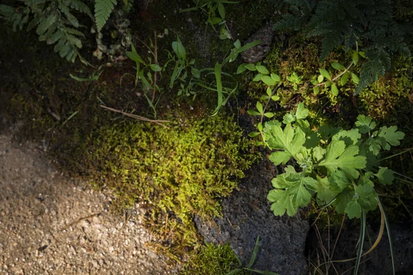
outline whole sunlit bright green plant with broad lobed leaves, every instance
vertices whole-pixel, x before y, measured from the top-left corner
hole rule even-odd
[[[306,120],[308,113],[301,103],[282,122],[273,120],[259,128],[264,144],[275,150],[271,162],[287,164],[293,158],[302,169],[288,165],[285,173],[273,179],[275,189],[268,193],[271,210],[278,216],[285,212],[293,216],[311,197],[324,205],[332,203],[350,219],[361,217],[361,210],[374,210],[374,181],[391,184],[394,179],[392,170],[378,167],[380,151],[399,145],[404,133],[396,126],[376,130],[375,122],[364,115],[359,115],[349,131],[329,126],[313,130]]]

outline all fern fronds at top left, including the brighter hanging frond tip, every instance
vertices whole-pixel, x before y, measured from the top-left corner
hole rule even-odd
[[[39,41],[45,41],[54,46],[54,52],[59,53],[67,61],[74,62],[79,57],[87,63],[78,50],[83,47],[82,40],[85,34],[79,22],[78,14],[85,14],[96,23],[98,32],[102,30],[109,15],[114,10],[116,0],[96,0],[93,16],[89,6],[82,0],[28,0],[22,1],[23,6],[0,5],[0,18],[12,24],[13,30],[27,30],[36,28]],[[123,1],[120,13],[131,10],[132,0]],[[95,21],[96,19],[96,21]]]

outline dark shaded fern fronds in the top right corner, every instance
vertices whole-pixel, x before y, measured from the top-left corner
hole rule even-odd
[[[291,13],[285,14],[275,28],[302,29],[308,36],[321,36],[321,60],[339,45],[346,45],[347,50],[362,46],[367,62],[362,65],[361,79],[354,94],[359,94],[390,69],[391,56],[410,56],[404,41],[408,28],[394,19],[390,0],[297,0],[288,3]]]

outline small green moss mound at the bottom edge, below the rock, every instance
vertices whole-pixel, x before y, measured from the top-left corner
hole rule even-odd
[[[184,266],[182,275],[224,275],[234,270],[239,263],[231,245],[204,245],[200,253],[191,257]]]

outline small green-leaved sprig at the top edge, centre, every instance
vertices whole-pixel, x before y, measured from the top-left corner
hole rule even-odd
[[[219,34],[220,39],[233,39],[231,32],[229,32],[229,28],[226,25],[226,17],[225,17],[225,7],[224,3],[226,4],[236,4],[238,2],[235,1],[226,1],[226,0],[193,0],[195,3],[195,7],[187,8],[184,10],[180,10],[180,12],[190,12],[193,10],[201,10],[208,19],[207,22],[213,30],[215,30],[215,25],[220,26]],[[218,12],[218,15],[217,15]],[[218,32],[215,30],[215,32]]]

